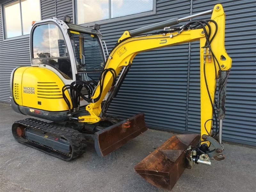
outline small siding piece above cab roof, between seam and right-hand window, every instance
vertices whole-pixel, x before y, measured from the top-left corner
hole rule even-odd
[[[71,17],[71,23],[73,22],[73,0],[57,0],[57,18],[63,19],[64,15]]]

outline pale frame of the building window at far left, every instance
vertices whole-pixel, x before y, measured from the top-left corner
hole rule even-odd
[[[15,37],[6,37],[6,25],[5,25],[5,12],[4,12],[4,6],[11,4],[15,1],[19,1],[20,4],[20,21],[21,21],[21,35],[20,36],[15,36]],[[41,13],[41,0],[39,0],[39,11],[40,11],[40,20],[42,20],[42,13]],[[1,12],[2,12],[2,28],[3,28],[3,41],[10,41],[10,40],[15,40],[15,39],[22,39],[29,37],[30,34],[23,35],[23,25],[22,25],[22,9],[21,9],[21,0],[9,0],[5,4],[2,4],[1,6]]]

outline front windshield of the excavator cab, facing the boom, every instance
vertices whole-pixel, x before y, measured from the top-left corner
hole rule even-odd
[[[101,72],[104,60],[96,35],[69,30],[78,72]]]

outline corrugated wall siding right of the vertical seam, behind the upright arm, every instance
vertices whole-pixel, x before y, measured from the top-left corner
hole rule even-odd
[[[223,139],[255,145],[255,2],[218,1],[226,13],[225,47],[232,58],[227,84]],[[193,1],[193,13],[211,9],[215,2]],[[246,5],[246,6],[244,6]],[[199,43],[191,44],[188,132],[200,132]]]

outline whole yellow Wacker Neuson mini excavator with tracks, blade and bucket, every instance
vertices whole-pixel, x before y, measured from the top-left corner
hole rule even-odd
[[[211,19],[191,20],[206,14],[212,14]],[[185,20],[188,23],[173,26]],[[68,16],[33,23],[31,67],[12,71],[11,106],[18,113],[48,121],[16,121],[13,137],[65,161],[81,156],[86,141],[94,141],[97,154],[106,156],[148,129],[143,113],[125,120],[106,113],[133,58],[140,52],[200,41],[201,135],[171,137],[136,165],[135,171],[151,184],[170,190],[185,168],[224,159],[221,133],[231,59],[224,47],[221,4],[125,31],[107,58],[99,28],[97,24],[93,28],[72,24]]]

